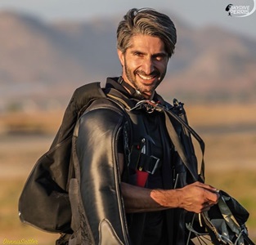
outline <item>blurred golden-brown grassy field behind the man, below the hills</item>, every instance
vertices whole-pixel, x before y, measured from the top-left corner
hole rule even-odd
[[[256,241],[256,105],[191,105],[186,110],[191,126],[206,143],[206,182],[246,207],[249,234]],[[33,238],[50,245],[58,237],[21,224],[17,202],[29,171],[51,145],[63,113],[0,115],[0,244],[4,238]]]

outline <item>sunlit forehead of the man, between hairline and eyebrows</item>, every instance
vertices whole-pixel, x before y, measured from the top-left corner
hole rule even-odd
[[[164,42],[157,37],[152,37],[149,35],[137,34],[132,36],[130,39],[128,49],[130,51],[143,51],[155,53],[166,53],[164,48]]]

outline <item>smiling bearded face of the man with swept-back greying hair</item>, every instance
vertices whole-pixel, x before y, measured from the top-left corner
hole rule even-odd
[[[148,99],[164,79],[168,54],[164,42],[148,35],[133,36],[130,44],[124,53],[118,50],[122,77]]]

